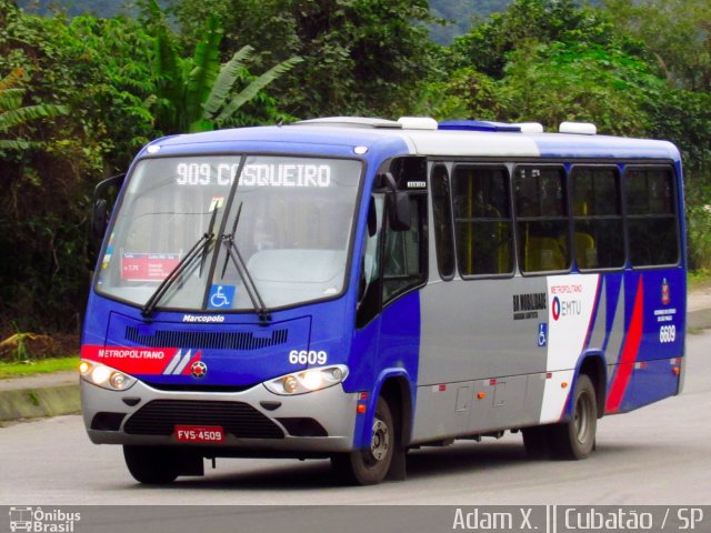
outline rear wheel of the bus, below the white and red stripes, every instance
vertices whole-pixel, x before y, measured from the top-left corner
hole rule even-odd
[[[570,420],[551,426],[549,439],[553,455],[557,459],[585,459],[594,449],[597,428],[595,388],[587,374],[580,374],[573,391]]]

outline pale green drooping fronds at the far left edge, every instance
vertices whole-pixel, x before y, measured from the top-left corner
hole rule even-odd
[[[20,86],[23,69],[18,68],[0,80],[0,137],[11,133],[11,130],[20,128],[22,124],[38,120],[67,114],[69,109],[66,105],[52,105],[40,103],[37,105],[22,105],[22,98],[27,92]],[[27,150],[31,143],[23,140],[20,133],[16,133],[13,139],[0,138],[0,154],[8,150]]]

